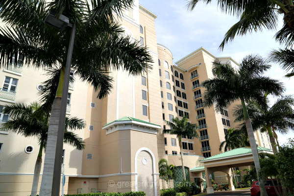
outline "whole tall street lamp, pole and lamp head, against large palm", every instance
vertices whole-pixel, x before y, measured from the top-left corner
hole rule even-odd
[[[61,175],[61,165],[62,165],[62,150],[63,150],[63,140],[64,140],[64,128],[65,128],[65,119],[66,119],[66,107],[67,107],[67,96],[69,91],[69,81],[71,73],[71,64],[73,56],[73,42],[75,34],[75,24],[69,23],[69,18],[60,15],[56,16],[56,12],[50,10],[45,18],[45,23],[57,28],[60,31],[65,30],[66,27],[72,27],[71,36],[69,42],[69,48],[67,53],[66,66],[64,71],[64,82],[62,88],[62,98],[60,106],[60,116],[58,124],[58,134],[56,142],[56,151],[54,159],[54,168],[53,168],[53,181],[52,181],[52,192],[51,196],[59,196],[60,190],[60,175]]]

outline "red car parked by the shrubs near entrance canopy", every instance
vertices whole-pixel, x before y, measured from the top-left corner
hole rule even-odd
[[[281,193],[282,193],[281,184],[278,186],[278,183],[277,183],[276,179],[272,179],[272,181],[273,181],[277,191],[279,191],[279,188],[280,188]],[[273,184],[272,184],[270,179],[267,179],[265,186],[266,186],[266,189],[267,189],[268,196],[277,196],[277,194],[276,194],[276,192],[274,190]],[[260,189],[259,189],[258,181],[253,182],[252,186],[250,187],[250,192],[251,192],[251,196],[260,196]]]

